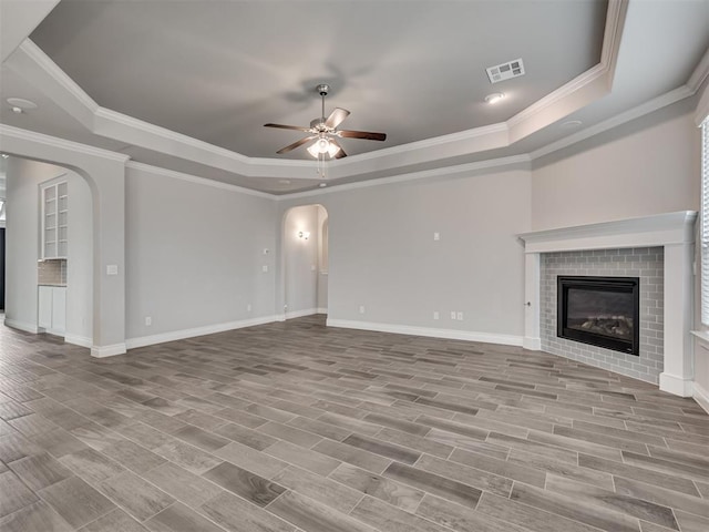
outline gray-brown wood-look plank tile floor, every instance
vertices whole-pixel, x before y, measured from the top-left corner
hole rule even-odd
[[[0,327],[0,530],[707,532],[709,417],[322,316],[107,359]]]

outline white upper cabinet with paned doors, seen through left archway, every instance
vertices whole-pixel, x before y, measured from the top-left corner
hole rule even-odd
[[[65,181],[41,186],[42,258],[66,258],[69,185]]]

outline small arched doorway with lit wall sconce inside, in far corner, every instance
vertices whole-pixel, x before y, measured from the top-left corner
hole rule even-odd
[[[285,319],[328,309],[328,212],[319,204],[284,214],[281,235]]]

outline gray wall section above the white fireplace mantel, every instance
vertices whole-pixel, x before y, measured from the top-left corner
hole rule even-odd
[[[533,229],[697,211],[700,139],[684,100],[535,161]]]

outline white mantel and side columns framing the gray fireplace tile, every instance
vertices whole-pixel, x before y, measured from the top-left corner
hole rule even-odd
[[[664,370],[659,375],[659,387],[660,390],[669,393],[691,397],[693,365],[690,330],[696,219],[696,212],[682,211],[518,235],[525,245],[524,347],[533,350],[542,349],[543,255],[559,252],[661,247],[664,250],[661,317]],[[618,356],[624,355],[618,354]],[[593,365],[593,361],[586,359],[584,361]]]

